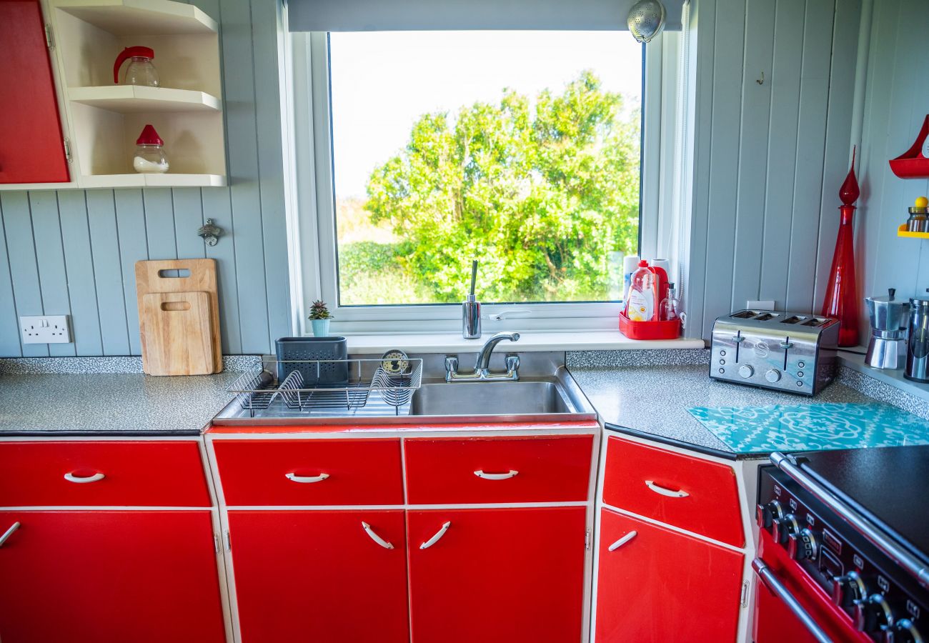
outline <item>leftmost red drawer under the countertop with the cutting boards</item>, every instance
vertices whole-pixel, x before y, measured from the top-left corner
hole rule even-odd
[[[0,506],[210,506],[194,440],[0,442]]]

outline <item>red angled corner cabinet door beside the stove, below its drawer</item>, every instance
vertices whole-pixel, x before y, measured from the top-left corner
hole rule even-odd
[[[598,555],[596,643],[736,640],[739,552],[602,509]]]

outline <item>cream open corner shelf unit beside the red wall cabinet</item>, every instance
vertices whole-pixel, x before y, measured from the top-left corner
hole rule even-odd
[[[76,187],[226,185],[216,21],[171,0],[49,2]],[[127,46],[154,50],[160,87],[113,84],[113,62]],[[164,139],[165,174],[133,171],[148,124]]]

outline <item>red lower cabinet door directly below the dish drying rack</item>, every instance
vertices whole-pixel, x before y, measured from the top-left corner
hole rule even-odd
[[[402,510],[229,511],[229,535],[243,643],[410,640]]]

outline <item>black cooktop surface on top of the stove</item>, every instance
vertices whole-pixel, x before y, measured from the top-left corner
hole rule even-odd
[[[796,455],[807,472],[929,560],[929,445]]]

